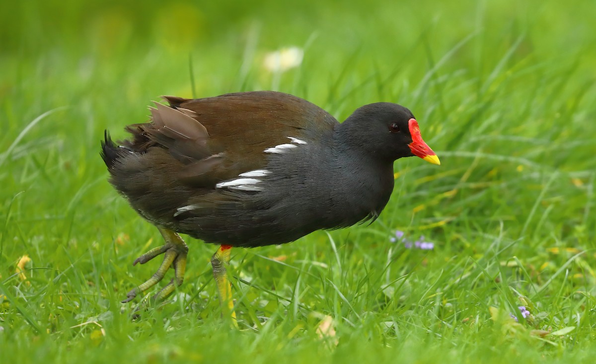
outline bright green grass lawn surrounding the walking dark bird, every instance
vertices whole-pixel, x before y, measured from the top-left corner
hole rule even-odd
[[[2,2],[0,362],[593,362],[594,19],[582,0]],[[263,66],[287,46],[299,67]],[[108,184],[103,130],[159,95],[257,89],[339,120],[398,102],[442,166],[396,161],[370,226],[232,250],[240,330],[191,238],[185,284],[131,321],[120,300],[159,264],[132,261],[161,237]]]

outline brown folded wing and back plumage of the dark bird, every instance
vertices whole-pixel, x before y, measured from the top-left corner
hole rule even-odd
[[[259,91],[202,99],[164,97],[151,123],[128,127],[135,138],[126,147],[166,148],[184,166],[178,178],[193,186],[213,186],[240,173],[265,167],[267,148],[289,137],[312,140],[337,125],[311,102],[281,92]]]

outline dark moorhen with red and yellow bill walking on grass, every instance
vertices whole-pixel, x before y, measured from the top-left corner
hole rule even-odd
[[[231,248],[373,222],[392,193],[395,160],[440,164],[411,111],[392,102],[364,105],[339,123],[282,92],[163,99],[168,105],[154,102],[148,122],[125,127],[129,139],[115,143],[105,130],[101,141],[111,185],[164,239],[134,261],[164,256],[123,303],[162,281],[170,267],[174,278],[154,300],[182,284],[185,234],[219,245],[213,276],[222,310],[235,320],[226,273]]]

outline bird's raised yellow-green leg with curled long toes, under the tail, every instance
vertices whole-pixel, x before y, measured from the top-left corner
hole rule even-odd
[[[156,285],[157,282],[163,279],[163,276],[166,275],[166,272],[170,267],[173,267],[174,269],[175,278],[172,279],[172,281],[170,281],[165,287],[163,287],[162,290],[160,290],[156,295],[154,295],[153,299],[162,300],[163,298],[166,298],[167,295],[175,290],[176,286],[181,285],[182,281],[184,281],[188,246],[176,232],[165,228],[157,229],[159,229],[159,232],[162,233],[166,244],[162,245],[161,247],[153,248],[147,253],[138,257],[135,262],[132,263],[132,265],[136,265],[136,263],[145,264],[154,257],[164,254],[162,265],[159,266],[159,269],[157,269],[157,272],[155,272],[151,278],[147,279],[147,281],[145,281],[143,284],[127,293],[126,299],[123,300],[122,303],[131,301],[136,297],[137,294]]]

